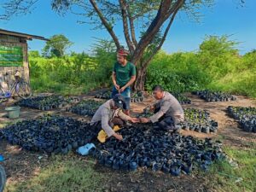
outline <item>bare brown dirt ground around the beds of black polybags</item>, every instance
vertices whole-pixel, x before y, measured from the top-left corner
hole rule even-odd
[[[91,96],[91,95],[90,95]],[[90,96],[81,96],[87,98]],[[213,137],[223,138],[223,143],[226,146],[247,147],[248,142],[256,143],[256,133],[247,133],[239,128],[236,120],[231,119],[225,113],[228,106],[241,106],[241,107],[256,107],[255,100],[248,99],[244,96],[236,96],[235,102],[204,102],[197,96],[188,94],[192,101],[191,105],[184,105],[183,108],[200,108],[206,109],[210,112],[211,118],[218,121],[218,134],[205,134],[197,133],[195,131],[182,131],[184,136],[193,136],[199,138]],[[149,103],[154,100],[148,96],[143,103],[132,103],[132,114],[142,113]],[[89,118],[67,113],[65,108],[50,112],[43,112],[31,108],[20,109],[20,119],[11,120],[6,117],[4,108],[11,106],[14,101],[5,102],[0,106],[0,128],[3,125],[13,123],[21,119],[34,119],[43,113],[58,113],[89,121]],[[32,153],[22,150],[19,146],[11,146],[5,141],[0,141],[0,154],[3,154],[5,161],[3,166],[6,169],[8,183],[24,181],[29,177],[38,175],[42,167],[50,164],[47,154]],[[209,191],[205,185],[203,177],[198,175],[182,175],[181,177],[172,177],[162,172],[150,172],[140,169],[137,172],[113,172],[102,166],[95,167],[96,172],[102,172],[108,176],[109,182],[105,184],[105,191]]]

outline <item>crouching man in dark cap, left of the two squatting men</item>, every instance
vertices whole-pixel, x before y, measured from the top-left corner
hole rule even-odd
[[[132,123],[139,122],[137,118],[131,118],[123,113],[123,108],[125,108],[125,99],[120,94],[117,94],[113,99],[103,103],[102,106],[96,110],[96,113],[93,115],[90,123],[96,127],[96,132],[103,129],[108,137],[113,136],[118,140],[122,140],[123,137],[113,131],[113,126],[122,126],[124,125],[124,122],[128,120]]]

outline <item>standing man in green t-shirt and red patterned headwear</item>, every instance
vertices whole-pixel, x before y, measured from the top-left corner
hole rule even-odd
[[[112,81],[113,90],[112,98],[116,94],[121,94],[125,98],[125,114],[130,115],[131,102],[131,84],[136,79],[136,67],[127,61],[129,52],[125,49],[119,49],[117,52],[117,62],[113,65]]]

